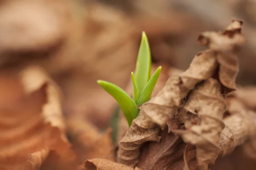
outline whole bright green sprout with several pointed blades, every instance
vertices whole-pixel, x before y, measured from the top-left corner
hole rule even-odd
[[[161,67],[158,67],[151,76],[151,53],[148,44],[148,38],[143,31],[140,43],[140,49],[137,57],[135,75],[131,72],[133,84],[133,98],[131,98],[122,88],[110,82],[98,80],[102,86],[118,102],[122,112],[125,114],[129,126],[140,112],[138,106],[147,102],[154,90],[157,79],[160,75]]]

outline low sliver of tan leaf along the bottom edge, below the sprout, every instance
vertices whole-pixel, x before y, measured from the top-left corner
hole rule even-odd
[[[129,167],[107,159],[89,159],[84,162],[85,170],[141,170],[138,167]]]

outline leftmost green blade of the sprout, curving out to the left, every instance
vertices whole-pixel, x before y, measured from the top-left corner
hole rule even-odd
[[[103,80],[98,80],[97,83],[101,85],[102,88],[104,88],[105,91],[107,91],[114,99],[116,99],[125,114],[129,126],[131,126],[132,120],[139,114],[139,109],[133,99],[131,99],[131,97],[117,85]]]

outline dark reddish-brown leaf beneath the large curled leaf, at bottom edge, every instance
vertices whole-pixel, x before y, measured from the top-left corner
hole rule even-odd
[[[186,143],[174,133],[163,131],[160,142],[144,147],[137,167],[143,170],[180,170]]]

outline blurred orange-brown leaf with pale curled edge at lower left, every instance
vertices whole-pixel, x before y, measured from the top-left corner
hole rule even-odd
[[[8,92],[0,99],[0,169],[37,170],[51,150],[60,159],[73,161],[58,88],[44,71],[37,67],[6,71],[0,79],[1,92]]]

